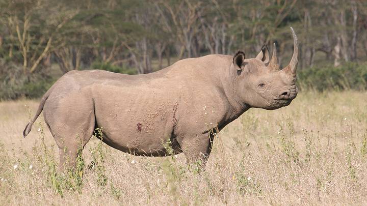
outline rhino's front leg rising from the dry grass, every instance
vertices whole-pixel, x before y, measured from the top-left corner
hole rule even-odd
[[[181,150],[185,154],[188,164],[201,161],[205,166],[212,152],[213,136],[207,133],[183,138]]]

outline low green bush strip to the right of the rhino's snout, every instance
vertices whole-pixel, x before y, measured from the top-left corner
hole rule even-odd
[[[303,69],[298,73],[301,90],[366,90],[367,64],[348,63],[343,66],[326,66]]]

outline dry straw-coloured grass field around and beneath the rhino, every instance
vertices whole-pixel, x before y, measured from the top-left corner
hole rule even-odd
[[[199,174],[183,155],[135,157],[93,138],[84,151],[80,189],[67,179],[49,181],[58,175],[51,170],[53,154],[58,159],[55,142],[45,129],[42,146],[41,123],[22,138],[25,104],[32,111],[38,106],[30,100],[0,103],[1,204],[367,205],[365,92],[301,93],[279,110],[250,109],[215,139]],[[59,187],[63,195],[58,183],[70,183]]]

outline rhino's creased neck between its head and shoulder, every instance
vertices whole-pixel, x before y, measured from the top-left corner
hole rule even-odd
[[[228,61],[225,69],[222,69],[222,74],[220,75],[222,88],[230,107],[225,120],[227,124],[237,119],[250,108],[250,105],[241,100],[240,95],[238,95],[237,70],[232,68],[231,60]]]

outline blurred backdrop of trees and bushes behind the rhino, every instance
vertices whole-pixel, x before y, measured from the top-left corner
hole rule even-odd
[[[0,0],[0,100],[37,98],[70,70],[143,74],[209,53],[300,41],[301,90],[367,89],[367,1]]]

